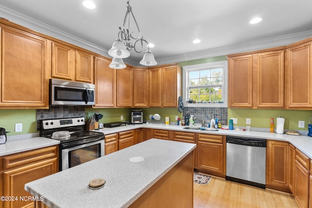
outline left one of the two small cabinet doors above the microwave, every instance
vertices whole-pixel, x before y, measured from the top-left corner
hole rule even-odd
[[[75,50],[72,47],[52,42],[52,77],[73,80],[75,63]]]

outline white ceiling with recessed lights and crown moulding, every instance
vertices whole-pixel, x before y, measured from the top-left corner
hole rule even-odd
[[[0,17],[104,56],[127,0],[0,0]],[[285,45],[312,36],[312,0],[131,0],[141,35],[160,64]],[[254,17],[263,20],[250,24]],[[131,27],[131,29],[135,29]],[[193,39],[201,43],[192,43]],[[83,43],[82,43],[83,42]],[[143,50],[145,52],[146,49]],[[125,60],[137,64],[143,53]]]

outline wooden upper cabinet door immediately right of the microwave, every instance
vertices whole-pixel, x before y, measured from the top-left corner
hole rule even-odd
[[[109,64],[108,59],[95,57],[95,107],[116,107],[116,69]]]

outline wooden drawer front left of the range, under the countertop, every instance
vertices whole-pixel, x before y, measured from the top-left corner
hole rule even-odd
[[[15,154],[3,156],[1,169],[10,169],[17,166],[37,162],[39,160],[47,159],[50,157],[58,157],[59,146],[51,146],[40,148],[38,150],[24,151]]]

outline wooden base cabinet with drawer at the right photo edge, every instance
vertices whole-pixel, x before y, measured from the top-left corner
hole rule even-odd
[[[295,149],[294,198],[300,208],[309,207],[310,158]]]

